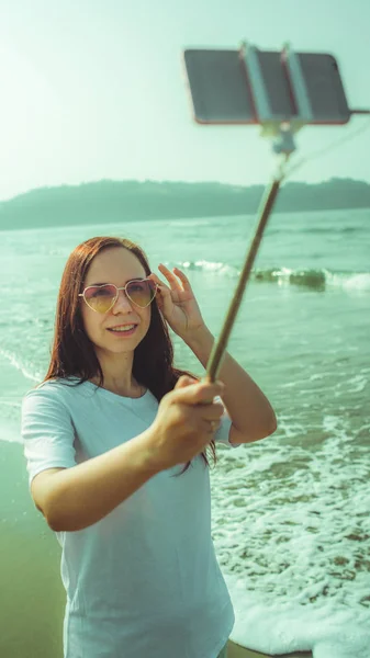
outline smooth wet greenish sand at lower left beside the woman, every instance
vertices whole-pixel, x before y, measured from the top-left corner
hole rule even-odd
[[[32,503],[20,444],[0,442],[0,656],[61,658],[59,547]]]

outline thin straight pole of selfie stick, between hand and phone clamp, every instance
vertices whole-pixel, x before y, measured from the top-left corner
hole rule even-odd
[[[239,310],[239,307],[242,304],[244,291],[246,288],[247,281],[248,281],[250,272],[251,272],[251,268],[255,262],[255,258],[256,258],[256,254],[257,254],[257,251],[258,251],[258,248],[259,248],[262,235],[264,235],[264,230],[266,228],[268,218],[271,214],[273,204],[277,200],[282,178],[283,177],[281,175],[281,177],[277,177],[276,179],[273,179],[270,186],[266,190],[266,193],[262,197],[260,208],[258,211],[258,223],[257,223],[257,229],[255,232],[255,237],[254,237],[250,248],[247,252],[246,260],[245,260],[243,270],[240,272],[239,281],[237,283],[236,291],[234,293],[234,297],[228,307],[226,318],[225,318],[223,328],[221,330],[218,340],[214,343],[209,362],[206,364],[205,378],[210,382],[215,382],[215,379],[217,378],[217,373],[221,367],[222,358],[226,350],[227,341],[228,341],[228,338],[229,338],[229,334],[231,334],[231,331],[232,331],[232,328],[233,328],[233,325],[234,325],[234,321],[236,318],[236,314]]]

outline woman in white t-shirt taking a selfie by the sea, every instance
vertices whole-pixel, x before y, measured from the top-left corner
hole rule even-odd
[[[187,276],[159,270],[167,283],[126,239],[79,245],[48,372],[23,400],[31,494],[63,547],[66,658],[216,658],[234,624],[206,451],[276,418],[228,354],[213,384],[173,367],[167,324],[203,366],[214,339]]]

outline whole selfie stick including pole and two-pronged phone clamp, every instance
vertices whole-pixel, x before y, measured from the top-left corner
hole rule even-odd
[[[283,160],[278,172],[273,177],[272,182],[267,188],[261,200],[260,207],[258,208],[255,236],[246,254],[236,291],[227,310],[218,340],[215,341],[206,364],[205,378],[210,382],[214,382],[217,378],[217,373],[221,368],[227,341],[243,300],[247,281],[250,276],[251,268],[254,265],[267,222],[284,178],[284,164],[287,163],[290,155],[295,150],[293,133],[312,121],[313,116],[300,60],[289,45],[283,47],[282,59],[287,67],[291,92],[298,110],[298,113],[294,115],[294,117],[290,117],[289,121],[287,121],[287,116],[277,115],[272,111],[271,99],[269,97],[268,88],[265,83],[257,57],[257,48],[243,43],[239,55],[245,64],[246,72],[250,81],[258,123],[262,126],[262,136],[274,138],[272,148],[276,154],[282,155]]]

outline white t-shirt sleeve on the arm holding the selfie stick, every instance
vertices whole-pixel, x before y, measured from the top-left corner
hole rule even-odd
[[[22,440],[29,486],[46,468],[76,465],[75,430],[58,390],[37,388],[22,400]]]

